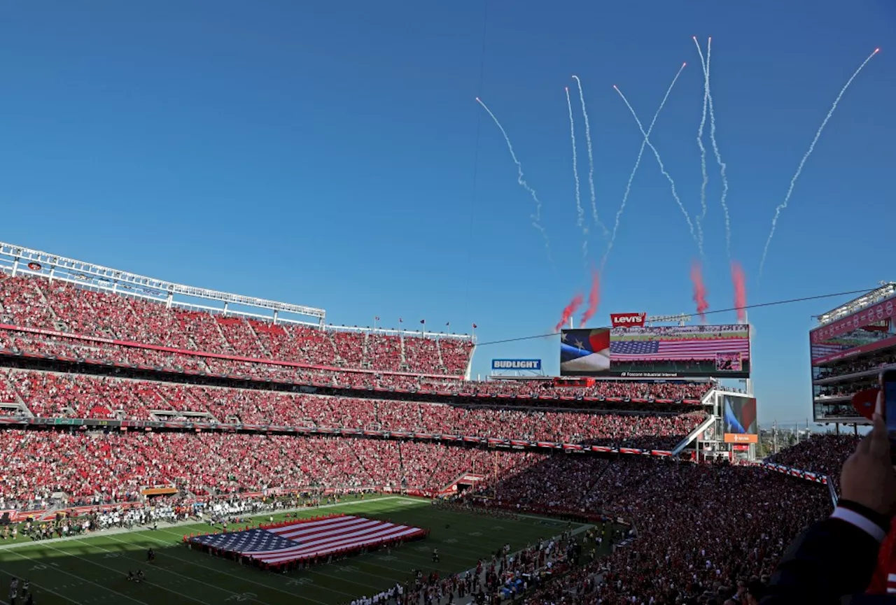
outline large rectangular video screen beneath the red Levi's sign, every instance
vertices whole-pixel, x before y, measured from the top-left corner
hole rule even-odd
[[[660,326],[564,329],[562,376],[750,377],[750,328]]]

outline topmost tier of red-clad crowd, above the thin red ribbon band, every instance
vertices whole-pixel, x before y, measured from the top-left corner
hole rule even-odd
[[[469,339],[426,337],[422,332],[392,336],[360,331],[347,336],[345,331],[310,325],[275,325],[168,307],[39,277],[0,275],[0,301],[0,320],[6,324],[260,361],[459,376],[467,370],[473,349]],[[443,342],[449,343],[445,354]]]

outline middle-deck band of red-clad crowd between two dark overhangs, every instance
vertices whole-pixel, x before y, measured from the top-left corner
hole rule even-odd
[[[668,449],[702,412],[619,414],[423,404],[0,370],[0,392],[39,417],[175,420],[426,432],[496,439]]]

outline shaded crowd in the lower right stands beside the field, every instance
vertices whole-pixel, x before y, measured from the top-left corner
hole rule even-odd
[[[567,475],[580,484],[568,486]],[[495,506],[561,502],[633,524],[630,544],[548,582],[524,599],[530,605],[743,599],[747,584],[768,578],[797,533],[831,510],[823,486],[780,473],[648,458],[552,456],[482,491],[496,491]],[[602,582],[594,582],[598,575]]]

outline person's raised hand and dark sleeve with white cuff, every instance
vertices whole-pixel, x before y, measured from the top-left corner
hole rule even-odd
[[[882,410],[878,395],[874,429],[843,464],[837,508],[790,544],[761,605],[896,604],[896,586],[890,594],[866,593],[896,513],[896,473]]]

